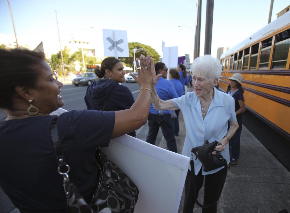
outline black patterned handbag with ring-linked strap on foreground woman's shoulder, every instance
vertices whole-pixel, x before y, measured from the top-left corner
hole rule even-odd
[[[60,145],[56,120],[51,123],[51,139],[56,155],[58,173],[63,175],[63,186],[67,200],[67,212],[99,213],[99,212],[127,212],[133,213],[138,199],[137,186],[118,168],[107,156],[96,149],[95,163],[99,167],[98,186],[89,204],[82,198],[79,190],[69,180],[69,165]]]

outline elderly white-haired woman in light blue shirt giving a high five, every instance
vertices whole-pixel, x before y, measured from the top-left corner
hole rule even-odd
[[[194,92],[187,92],[179,98],[163,101],[156,91],[155,84],[159,78],[153,76],[151,101],[156,110],[180,109],[183,114],[186,136],[182,155],[192,157],[191,149],[204,145],[204,141],[218,141],[219,145],[215,151],[221,151],[221,155],[230,161],[229,140],[238,128],[235,102],[230,95],[218,91],[214,86],[218,83],[221,74],[221,64],[217,58],[211,55],[198,57],[193,62],[193,86]],[[230,129],[227,131],[228,122]],[[213,151],[212,154],[216,154]],[[192,213],[195,199],[203,185],[205,176],[205,198],[204,205],[217,201],[224,186],[222,176],[227,168],[221,167],[205,172],[201,162],[194,160],[195,185],[192,185],[192,175],[188,172],[185,181],[185,205],[184,213]],[[217,203],[202,212],[216,212]]]

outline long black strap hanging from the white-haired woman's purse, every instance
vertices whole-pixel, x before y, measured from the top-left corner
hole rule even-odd
[[[199,203],[198,200],[197,200],[197,198],[195,197],[195,171],[194,171],[194,161],[193,161],[193,160],[190,160],[190,166],[191,166],[191,181],[192,181],[191,184],[192,184],[192,189],[193,189],[193,198],[194,198],[194,200],[195,200],[195,203],[196,203],[199,207],[201,207],[201,208],[208,208],[208,207],[211,207],[211,206],[217,204],[217,203],[218,203],[218,199],[219,199],[220,196],[221,196],[221,191],[223,190],[223,187],[224,187],[224,182],[225,182],[226,177],[227,177],[227,166],[224,167],[224,172],[223,172],[223,174],[222,174],[222,178],[221,178],[221,183],[222,183],[222,184],[218,185],[218,190],[217,190],[218,193],[217,193],[217,196],[216,196],[215,201],[214,201],[213,203],[211,203],[211,204],[205,204],[205,205],[202,205],[201,203]],[[185,199],[186,199],[186,200],[185,200],[184,205],[187,204],[187,202],[188,202],[188,197],[185,198]]]

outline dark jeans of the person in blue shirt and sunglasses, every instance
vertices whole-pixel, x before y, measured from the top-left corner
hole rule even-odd
[[[148,116],[148,126],[149,131],[146,138],[146,142],[150,144],[155,144],[156,137],[161,127],[163,136],[167,143],[167,149],[177,153],[176,141],[173,134],[173,126],[171,115],[169,114],[149,114]]]

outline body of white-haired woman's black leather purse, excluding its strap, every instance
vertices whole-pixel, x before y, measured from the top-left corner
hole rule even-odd
[[[212,143],[205,141],[205,145],[192,148],[192,156],[195,154],[195,160],[197,158],[200,160],[204,171],[211,171],[222,166],[227,166],[227,161],[220,151],[216,151],[216,155],[211,154],[217,145],[219,145],[218,141],[213,141]]]

